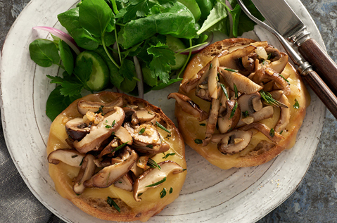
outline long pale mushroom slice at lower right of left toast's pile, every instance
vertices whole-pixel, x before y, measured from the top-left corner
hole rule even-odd
[[[150,188],[155,188],[163,184],[168,174],[179,174],[184,172],[184,169],[177,163],[166,160],[158,163],[159,168],[148,168],[143,174],[139,175],[134,181],[134,200],[140,201],[139,194],[144,193]]]

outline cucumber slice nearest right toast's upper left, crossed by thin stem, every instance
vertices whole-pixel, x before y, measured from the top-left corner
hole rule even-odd
[[[168,48],[174,52],[182,51],[186,49],[184,43],[177,37],[172,37],[171,35],[166,35],[166,44]],[[177,54],[175,56],[175,65],[170,65],[171,70],[178,70],[182,68],[185,61],[187,60],[187,55],[184,54]]]

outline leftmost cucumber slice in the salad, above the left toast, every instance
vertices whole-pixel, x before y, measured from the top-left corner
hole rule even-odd
[[[103,58],[95,53],[94,51],[83,51],[76,58],[77,61],[81,60],[82,57],[86,59],[91,59],[92,61],[92,71],[90,75],[90,79],[87,82],[87,85],[91,91],[101,91],[103,90],[109,83],[109,69],[104,62]]]

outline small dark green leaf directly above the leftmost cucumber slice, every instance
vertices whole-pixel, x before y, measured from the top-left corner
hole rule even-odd
[[[90,32],[88,32],[87,30],[84,30],[84,28],[77,28],[75,30],[72,30],[70,35],[72,36],[72,38],[75,39],[77,46],[80,46],[83,49],[94,51],[95,49],[97,49],[99,45],[98,40],[95,39],[90,34]]]

